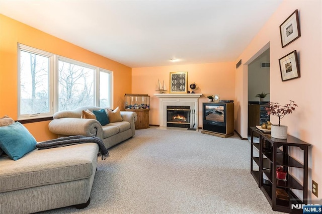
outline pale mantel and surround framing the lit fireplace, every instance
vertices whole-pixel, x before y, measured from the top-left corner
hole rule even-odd
[[[191,110],[191,128],[194,123],[198,130],[198,106],[199,97],[202,93],[154,93],[159,98],[159,126],[167,127],[167,105],[190,106]]]

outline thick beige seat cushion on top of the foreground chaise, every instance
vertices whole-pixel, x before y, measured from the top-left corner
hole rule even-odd
[[[13,161],[0,158],[0,192],[81,180],[95,173],[96,143],[52,149],[35,149]]]

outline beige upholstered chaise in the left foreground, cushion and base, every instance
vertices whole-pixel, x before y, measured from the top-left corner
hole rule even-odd
[[[85,143],[35,149],[16,161],[9,156],[0,157],[0,213],[86,207],[98,151],[96,143]]]

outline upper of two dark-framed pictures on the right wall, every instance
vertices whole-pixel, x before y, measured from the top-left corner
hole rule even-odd
[[[280,33],[282,48],[301,36],[297,10],[280,25]]]

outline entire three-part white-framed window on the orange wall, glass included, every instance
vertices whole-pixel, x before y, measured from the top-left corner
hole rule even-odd
[[[18,119],[52,116],[79,106],[112,106],[112,72],[18,45]]]

